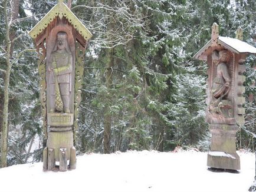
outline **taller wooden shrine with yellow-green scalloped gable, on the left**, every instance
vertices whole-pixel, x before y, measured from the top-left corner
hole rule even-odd
[[[58,1],[31,29],[38,52],[40,101],[47,147],[43,151],[43,168],[60,171],[76,168],[76,128],[81,101],[84,54],[90,31]]]

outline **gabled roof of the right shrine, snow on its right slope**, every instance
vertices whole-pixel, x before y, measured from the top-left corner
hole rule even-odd
[[[217,39],[217,46],[212,46],[212,40],[210,40],[193,56],[193,58],[206,61],[207,56],[211,54],[212,51],[221,49],[221,47],[222,49],[228,49],[236,54],[256,54],[256,48],[247,44],[247,42],[235,38],[219,36]]]

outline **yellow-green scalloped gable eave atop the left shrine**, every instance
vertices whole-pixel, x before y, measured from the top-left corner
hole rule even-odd
[[[29,36],[33,39],[37,38],[38,35],[42,34],[44,32],[44,29],[50,25],[50,23],[57,17],[60,18],[65,17],[67,21],[73,25],[73,27],[77,30],[77,32],[86,40],[90,39],[93,35],[90,31],[84,25],[81,23],[81,21],[77,18],[76,15],[73,14],[73,12],[70,11],[70,9],[63,3],[63,1],[59,1],[57,5],[55,5],[42,19],[40,22],[35,25],[34,28],[31,29],[31,31],[28,32]]]

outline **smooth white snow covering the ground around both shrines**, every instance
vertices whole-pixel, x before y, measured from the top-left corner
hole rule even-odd
[[[77,169],[42,171],[42,163],[0,169],[1,192],[17,191],[248,191],[255,174],[252,153],[239,153],[239,173],[207,170],[207,153],[129,151],[77,157]],[[3,190],[4,189],[4,190]]]

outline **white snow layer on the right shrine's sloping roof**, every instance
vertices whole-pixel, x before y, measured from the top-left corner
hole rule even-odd
[[[230,38],[230,37],[221,37],[219,36],[218,42],[228,45],[229,47],[237,50],[239,53],[250,53],[256,54],[256,48],[247,44],[247,42],[241,41],[239,39]]]

